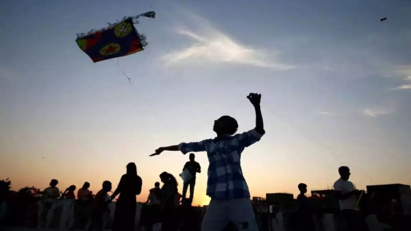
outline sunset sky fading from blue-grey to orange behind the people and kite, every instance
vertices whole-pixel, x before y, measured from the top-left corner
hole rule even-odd
[[[76,33],[154,10],[145,51],[93,63]],[[411,184],[411,1],[1,1],[0,178],[12,189],[114,187],[135,162],[138,201],[188,156],[161,146],[214,138],[214,120],[266,134],[241,165],[251,196]],[[386,17],[386,21],[379,21]],[[117,66],[116,62],[119,62]],[[122,71],[131,78],[131,84]],[[194,204],[208,204],[206,153]]]

